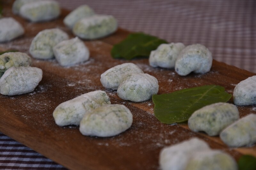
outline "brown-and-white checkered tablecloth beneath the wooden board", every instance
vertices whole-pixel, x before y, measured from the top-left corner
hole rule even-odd
[[[204,44],[213,58],[256,72],[255,0],[58,0],[63,8],[88,4],[119,26],[169,42]],[[0,169],[65,169],[0,133]]]

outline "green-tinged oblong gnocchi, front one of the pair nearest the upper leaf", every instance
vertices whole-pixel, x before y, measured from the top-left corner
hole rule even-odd
[[[82,39],[98,39],[117,30],[117,21],[112,15],[93,15],[76,22],[73,33]]]

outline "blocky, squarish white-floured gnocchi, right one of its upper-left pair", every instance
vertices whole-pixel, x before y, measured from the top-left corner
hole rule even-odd
[[[53,47],[56,60],[62,66],[70,66],[89,59],[90,53],[79,38],[61,41]]]

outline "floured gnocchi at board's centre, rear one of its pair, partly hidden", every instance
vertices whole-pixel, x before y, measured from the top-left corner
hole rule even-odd
[[[133,63],[119,64],[102,73],[100,82],[107,89],[117,90],[123,79],[132,73],[143,73],[143,71]]]

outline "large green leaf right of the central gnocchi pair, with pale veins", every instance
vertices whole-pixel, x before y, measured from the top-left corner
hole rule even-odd
[[[185,122],[194,111],[213,103],[227,102],[231,94],[224,87],[205,85],[180,91],[153,95],[154,114],[162,123]]]

